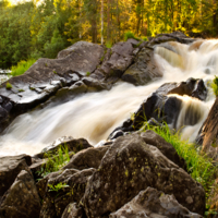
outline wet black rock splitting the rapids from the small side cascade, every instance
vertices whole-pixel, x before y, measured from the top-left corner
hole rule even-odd
[[[173,129],[177,129],[177,120],[180,113],[182,100],[177,96],[170,94],[178,94],[180,96],[187,95],[191,97],[205,100],[207,97],[207,89],[202,80],[189,78],[182,83],[166,83],[161,85],[155,93],[140,106],[134,112],[134,119],[129,119],[119,128],[117,128],[109,136],[113,135],[118,130],[122,132],[130,132],[140,130],[145,121],[155,119],[157,122],[167,122]],[[190,110],[190,112],[193,112]],[[193,122],[186,120],[185,125],[196,124],[197,118]]]

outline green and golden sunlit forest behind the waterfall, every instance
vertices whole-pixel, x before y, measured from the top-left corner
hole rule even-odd
[[[56,58],[78,40],[108,48],[132,34],[143,40],[181,31],[216,37],[216,0],[0,0],[0,68]]]

